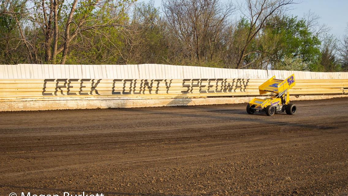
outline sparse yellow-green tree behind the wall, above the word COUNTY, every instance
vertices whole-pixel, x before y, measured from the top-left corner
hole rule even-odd
[[[167,25],[153,1],[135,4],[124,38],[122,58],[128,63],[167,63]]]

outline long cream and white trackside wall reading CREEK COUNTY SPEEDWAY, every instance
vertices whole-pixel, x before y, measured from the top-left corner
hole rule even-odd
[[[2,71],[1,71],[2,70]],[[1,111],[244,103],[258,86],[295,74],[292,100],[348,94],[347,72],[176,65],[0,65]],[[306,95],[306,96],[303,96]]]

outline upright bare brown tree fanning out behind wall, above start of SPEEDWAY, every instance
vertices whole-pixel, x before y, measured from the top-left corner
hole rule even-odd
[[[235,8],[218,0],[163,0],[169,32],[182,58],[208,61],[218,51],[223,26]]]

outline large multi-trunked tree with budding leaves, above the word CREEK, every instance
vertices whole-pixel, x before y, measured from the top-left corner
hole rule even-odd
[[[83,48],[84,34],[125,31],[126,10],[133,0],[3,0],[2,16],[15,21],[30,63],[65,64],[71,48]],[[21,8],[21,9],[19,9]],[[26,23],[24,23],[26,22]],[[26,30],[24,31],[24,28]],[[40,32],[41,31],[41,32]],[[31,36],[29,36],[32,34]],[[43,35],[41,37],[41,35]],[[31,39],[31,40],[30,40]],[[79,40],[79,41],[78,41]],[[44,53],[44,60],[40,55]]]

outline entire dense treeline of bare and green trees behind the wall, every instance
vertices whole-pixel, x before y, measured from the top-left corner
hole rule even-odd
[[[348,70],[348,35],[293,0],[0,0],[0,63]]]

